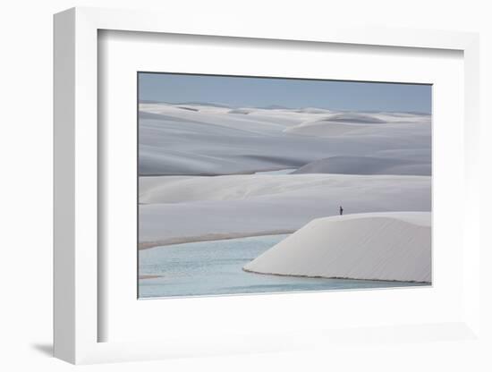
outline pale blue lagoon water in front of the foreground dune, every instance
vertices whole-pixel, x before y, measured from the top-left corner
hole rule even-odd
[[[319,279],[246,273],[242,266],[287,235],[200,241],[140,250],[139,297],[201,296],[416,286],[416,283]]]

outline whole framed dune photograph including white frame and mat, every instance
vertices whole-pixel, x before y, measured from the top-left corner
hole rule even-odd
[[[55,15],[55,356],[474,337],[477,35],[162,16]]]

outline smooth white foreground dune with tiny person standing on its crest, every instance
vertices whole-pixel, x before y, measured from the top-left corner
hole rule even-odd
[[[431,282],[429,212],[319,218],[244,266],[261,274]]]

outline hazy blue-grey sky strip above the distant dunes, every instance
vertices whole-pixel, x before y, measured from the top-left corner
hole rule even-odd
[[[374,82],[139,73],[140,100],[229,106],[431,112],[431,86]]]

